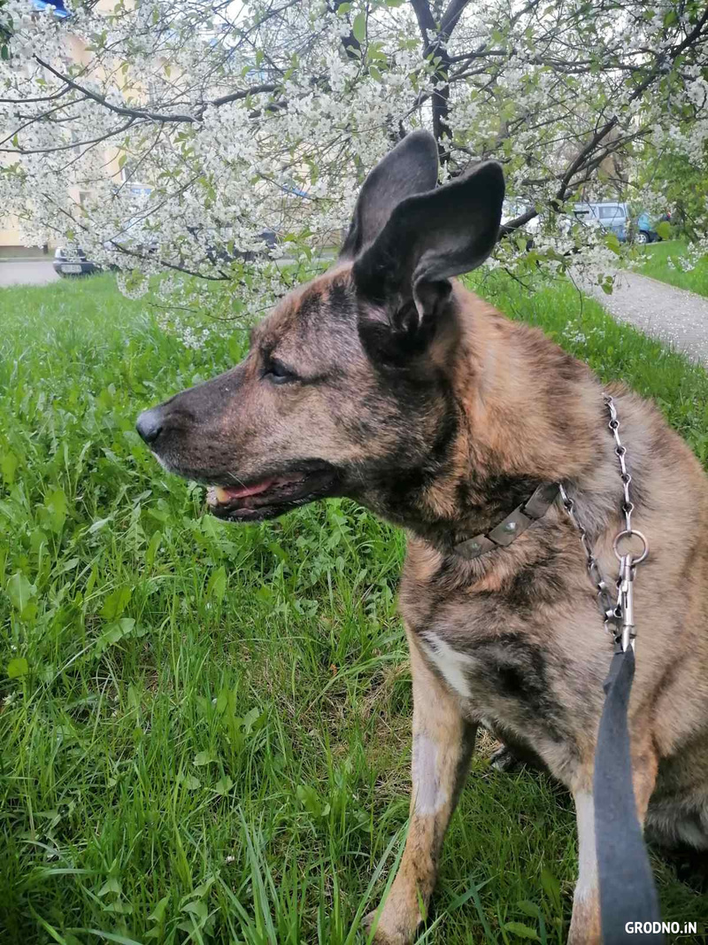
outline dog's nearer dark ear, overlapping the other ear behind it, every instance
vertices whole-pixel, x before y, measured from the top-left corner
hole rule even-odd
[[[423,326],[451,292],[449,279],[480,266],[497,242],[504,198],[501,165],[478,164],[436,190],[405,198],[352,267],[359,296]],[[414,310],[411,302],[414,303]],[[417,313],[417,318],[415,315]]]

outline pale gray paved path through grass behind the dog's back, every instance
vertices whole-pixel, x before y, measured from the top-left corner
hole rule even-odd
[[[618,273],[611,296],[589,280],[577,282],[615,318],[708,365],[708,299],[636,272]]]

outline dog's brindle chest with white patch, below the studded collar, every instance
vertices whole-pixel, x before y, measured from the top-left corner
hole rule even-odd
[[[411,580],[400,603],[414,643],[470,718],[497,721],[539,747],[575,742],[592,725],[599,683],[581,652],[576,659],[559,646],[562,603],[519,608],[503,593],[449,593]]]

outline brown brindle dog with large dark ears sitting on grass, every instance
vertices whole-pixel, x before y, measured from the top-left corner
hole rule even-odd
[[[613,647],[578,533],[556,502],[509,547],[467,560],[455,545],[563,482],[614,578],[614,440],[588,368],[450,281],[497,240],[499,166],[436,182],[434,142],[409,135],[363,184],[338,263],[278,305],[238,367],[146,411],[138,430],[168,470],[215,487],[219,518],[347,495],[408,530],[411,823],[375,940],[413,940],[483,721],[572,791],[570,941],[595,943],[593,758]],[[651,546],[635,592],[637,808],[666,842],[708,849],[708,481],[652,405],[612,393]]]

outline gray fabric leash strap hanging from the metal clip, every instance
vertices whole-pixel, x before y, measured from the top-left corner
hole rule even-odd
[[[633,677],[634,650],[628,646],[624,653],[615,653],[603,683],[605,704],[595,752],[595,841],[603,945],[638,941],[659,945],[665,940],[660,932],[632,935],[626,930],[628,922],[661,920],[632,788],[627,710]]]

